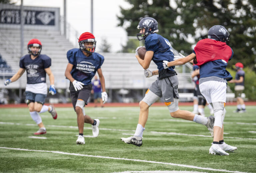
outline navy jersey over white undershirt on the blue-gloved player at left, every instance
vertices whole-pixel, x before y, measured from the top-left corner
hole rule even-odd
[[[46,82],[45,68],[51,66],[51,58],[47,55],[39,54],[35,59],[31,59],[30,54],[20,58],[20,68],[27,71],[27,83],[36,84]]]

